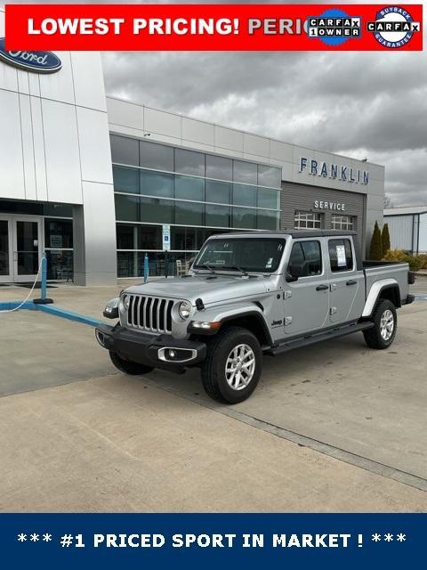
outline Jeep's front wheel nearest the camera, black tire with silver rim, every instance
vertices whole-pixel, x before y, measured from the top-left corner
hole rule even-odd
[[[217,402],[243,402],[257,387],[261,369],[258,339],[249,330],[230,327],[207,346],[202,384],[206,394]]]

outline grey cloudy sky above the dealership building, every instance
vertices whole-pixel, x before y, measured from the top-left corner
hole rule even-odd
[[[367,158],[385,165],[393,205],[427,204],[425,50],[104,53],[103,61],[109,94]]]

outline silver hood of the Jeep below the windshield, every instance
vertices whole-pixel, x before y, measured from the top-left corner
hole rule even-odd
[[[257,296],[267,293],[271,281],[265,277],[241,277],[240,275],[194,275],[191,277],[171,277],[133,285],[125,289],[127,293],[168,297],[190,301],[195,305],[201,298],[205,305],[233,298]]]

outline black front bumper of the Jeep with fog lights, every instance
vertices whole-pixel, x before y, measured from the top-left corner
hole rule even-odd
[[[120,358],[166,371],[182,372],[204,361],[206,356],[203,342],[170,335],[155,337],[125,329],[120,324],[115,327],[100,324],[95,329],[95,335],[103,348],[117,353]]]

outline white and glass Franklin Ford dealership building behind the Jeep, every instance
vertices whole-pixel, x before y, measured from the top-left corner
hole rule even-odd
[[[56,56],[0,60],[0,283],[44,251],[81,285],[141,276],[146,255],[179,273],[217,232],[354,230],[366,250],[383,167],[109,97],[100,53]]]

